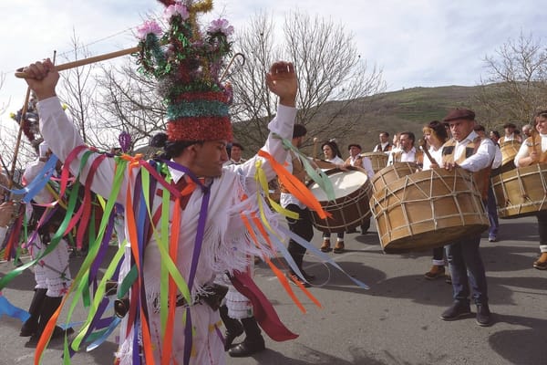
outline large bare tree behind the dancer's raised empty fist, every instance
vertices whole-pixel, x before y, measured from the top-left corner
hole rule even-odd
[[[275,112],[275,99],[263,84],[272,61],[294,61],[299,79],[298,121],[310,137],[344,139],[366,111],[366,96],[385,90],[382,71],[368,68],[351,34],[344,26],[319,16],[292,13],[285,17],[284,43],[274,39],[271,16],[259,14],[236,44],[246,55],[239,72],[232,75],[236,137],[251,148],[260,147],[265,125]],[[250,133],[249,130],[253,130]]]

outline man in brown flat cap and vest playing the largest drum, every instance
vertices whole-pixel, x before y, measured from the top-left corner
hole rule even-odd
[[[442,164],[447,170],[461,167],[473,172],[477,187],[486,202],[491,164],[495,156],[495,145],[488,139],[481,139],[473,128],[473,110],[451,110],[444,119],[449,123],[452,139],[442,150]],[[450,276],[454,303],[440,316],[443,320],[455,320],[471,315],[470,287],[477,305],[477,324],[490,326],[491,315],[488,306],[488,293],[484,264],[480,257],[480,234],[467,235],[447,245]]]

